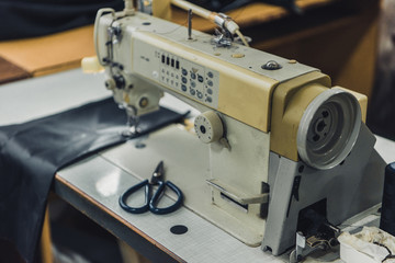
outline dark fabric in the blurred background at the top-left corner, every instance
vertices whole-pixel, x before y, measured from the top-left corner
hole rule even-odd
[[[0,0],[0,41],[92,24],[101,8],[122,10],[123,0]]]

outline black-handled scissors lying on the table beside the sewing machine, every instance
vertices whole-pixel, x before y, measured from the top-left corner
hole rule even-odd
[[[173,183],[170,181],[163,181],[163,161],[160,161],[157,168],[155,169],[151,179],[148,181],[148,179],[144,180],[143,182],[133,185],[128,190],[126,190],[121,196],[120,196],[120,206],[132,214],[142,214],[147,210],[150,210],[151,213],[156,215],[165,215],[172,213],[177,210],[183,201],[183,194],[179,187],[177,187]],[[155,192],[154,195],[151,195],[154,185],[159,185],[158,190]],[[177,194],[177,201],[174,204],[159,208],[157,207],[157,204],[159,203],[160,197],[165,193],[165,188],[168,186],[171,191],[173,191]],[[129,195],[138,191],[139,188],[145,187],[145,204],[140,207],[132,207],[126,205],[126,199]]]

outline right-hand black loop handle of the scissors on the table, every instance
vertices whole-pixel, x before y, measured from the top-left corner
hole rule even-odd
[[[183,195],[182,195],[181,190],[179,190],[179,187],[177,187],[170,181],[167,181],[166,183],[160,181],[160,182],[158,182],[158,184],[159,184],[159,187],[155,192],[153,198],[149,202],[149,210],[156,215],[166,215],[166,214],[177,210],[182,205],[182,201],[183,201]],[[165,192],[166,185],[169,186],[169,188],[177,194],[177,201],[174,204],[172,204],[168,207],[159,208],[159,207],[157,207],[157,204],[159,202],[159,198],[162,196],[162,194]]]

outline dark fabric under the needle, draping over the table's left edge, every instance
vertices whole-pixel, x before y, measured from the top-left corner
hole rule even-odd
[[[183,115],[167,108],[140,118],[147,134]],[[25,124],[0,127],[0,241],[12,242],[32,262],[47,194],[60,168],[125,141],[126,114],[112,99]],[[0,262],[9,262],[0,254]]]

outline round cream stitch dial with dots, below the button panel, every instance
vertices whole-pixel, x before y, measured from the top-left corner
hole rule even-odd
[[[204,144],[219,140],[224,135],[224,125],[218,114],[213,111],[204,112],[194,121],[196,135]]]

